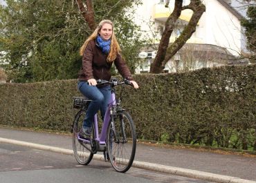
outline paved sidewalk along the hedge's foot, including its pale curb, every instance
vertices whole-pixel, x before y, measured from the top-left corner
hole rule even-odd
[[[0,128],[0,143],[3,143],[4,141],[1,141],[1,138],[53,146],[72,152],[70,151],[72,150],[71,135]],[[95,157],[97,158],[97,156]],[[255,155],[228,155],[188,148],[165,148],[138,143],[134,166],[149,169],[153,167],[156,171],[169,171],[170,173],[175,171],[175,173],[180,172],[179,175],[190,177],[191,173],[194,173],[197,177],[198,175],[213,176],[219,178],[219,182],[225,182],[226,176],[244,179],[235,179],[227,182],[246,182],[246,180],[251,180],[248,182],[256,182]]]

